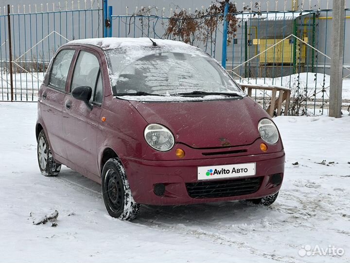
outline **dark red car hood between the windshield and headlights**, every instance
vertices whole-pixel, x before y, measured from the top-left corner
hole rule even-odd
[[[148,123],[166,126],[175,142],[192,148],[248,145],[268,114],[249,97],[191,102],[129,101]]]

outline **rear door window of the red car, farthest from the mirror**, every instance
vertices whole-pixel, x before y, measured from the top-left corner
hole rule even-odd
[[[70,63],[75,50],[61,50],[53,60],[49,85],[61,91],[65,91]]]

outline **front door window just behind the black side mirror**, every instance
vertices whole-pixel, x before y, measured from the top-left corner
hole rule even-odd
[[[100,72],[100,64],[95,55],[81,51],[75,63],[70,92],[80,86],[88,86],[92,89],[90,102],[93,101],[96,87],[96,80]]]

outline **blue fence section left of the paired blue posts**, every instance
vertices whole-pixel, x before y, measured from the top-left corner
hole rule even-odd
[[[0,100],[36,101],[57,48],[72,39],[102,37],[102,13],[93,0],[0,8]]]

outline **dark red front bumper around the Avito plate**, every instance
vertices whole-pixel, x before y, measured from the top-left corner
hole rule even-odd
[[[280,152],[258,155],[199,160],[149,161],[130,157],[122,158],[135,202],[161,206],[255,199],[274,194],[278,192],[281,187],[284,175],[284,160],[285,153],[283,150]],[[205,181],[198,181],[197,179],[198,166],[217,166],[251,162],[256,163],[256,175],[254,176]],[[280,175],[279,184],[274,184],[274,182],[272,182],[272,175],[276,174]],[[258,178],[259,182],[257,183]],[[209,197],[203,198],[201,195],[199,197],[193,197],[191,189],[194,189],[193,186],[197,186],[197,184],[195,184],[197,182],[199,182],[198,184],[200,185],[197,189],[206,188],[206,184],[210,185],[213,192],[207,195]],[[218,186],[215,185],[215,182]],[[157,184],[165,186],[165,192],[160,196],[155,193],[155,186]],[[245,189],[249,188],[249,185],[254,185],[255,188],[253,187],[250,191],[249,189],[245,191]],[[225,194],[222,192],[219,195],[215,194],[218,187],[223,188],[219,190],[220,192],[225,191],[227,186],[235,189],[239,188],[240,191],[236,191],[233,196],[232,192],[230,193],[231,196],[223,196]],[[210,188],[206,189],[206,193],[211,192],[211,190],[208,190]]]

